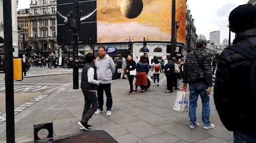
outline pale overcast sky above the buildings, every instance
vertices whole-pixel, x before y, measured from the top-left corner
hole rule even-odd
[[[19,0],[18,9],[29,8],[30,2],[30,0]],[[222,43],[224,38],[228,38],[227,25],[230,11],[247,2],[248,0],[187,0],[187,5],[195,19],[196,33],[203,34],[209,40],[210,32],[221,31]],[[231,40],[233,38],[234,34],[231,35]]]

